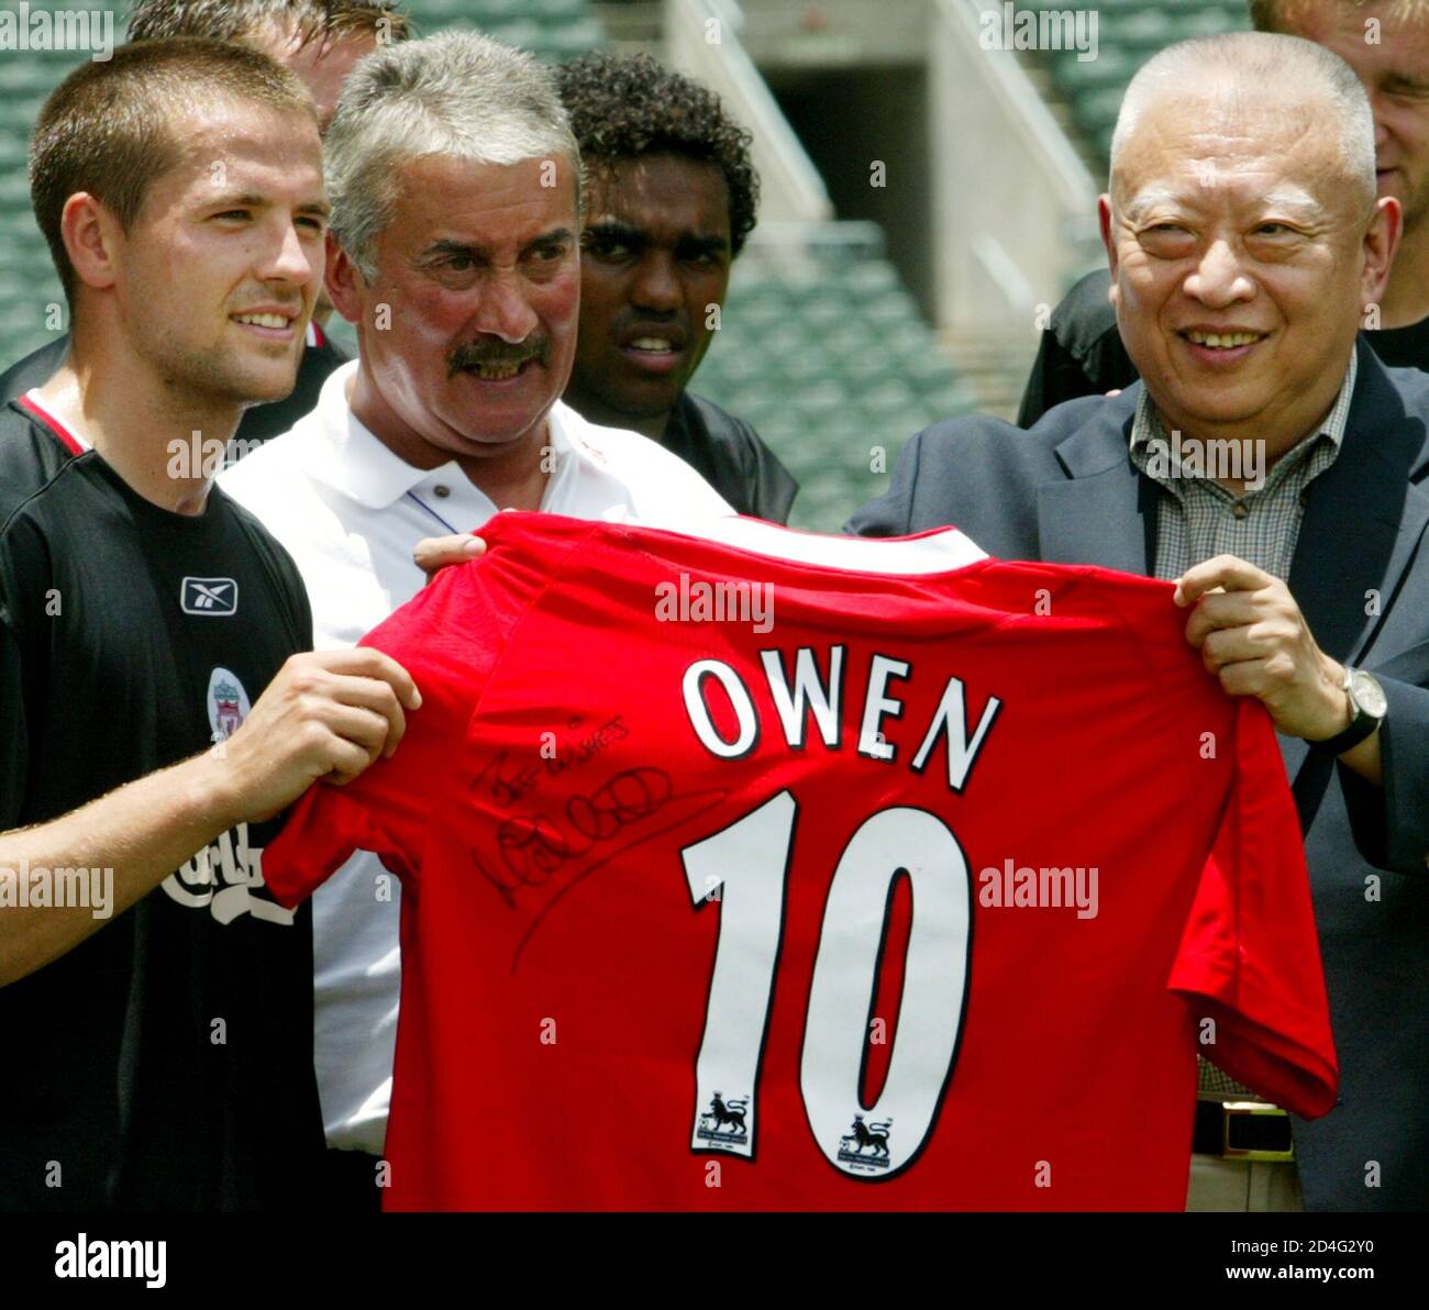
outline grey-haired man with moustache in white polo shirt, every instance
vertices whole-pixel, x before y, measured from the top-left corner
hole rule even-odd
[[[419,540],[502,509],[667,526],[732,513],[654,441],[559,400],[580,304],[580,156],[547,70],[473,33],[382,50],[343,90],[326,176],[327,287],[359,359],[220,479],[292,551],[320,644],[354,644],[417,593]],[[382,1196],[397,910],[394,880],[363,853],[313,900],[332,1196],[353,1209]]]

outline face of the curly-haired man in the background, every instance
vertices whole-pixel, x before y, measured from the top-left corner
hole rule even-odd
[[[663,419],[713,339],[729,290],[729,190],[717,164],[653,154],[592,180],[570,401],[617,426]]]

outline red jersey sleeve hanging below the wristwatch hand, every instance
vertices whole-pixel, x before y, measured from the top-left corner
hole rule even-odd
[[[1250,699],[1235,713],[1235,776],[1167,986],[1213,1020],[1218,1067],[1316,1119],[1339,1070],[1305,846],[1269,717]]]

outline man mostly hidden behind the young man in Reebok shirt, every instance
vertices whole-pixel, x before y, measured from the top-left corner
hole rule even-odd
[[[386,23],[386,40],[406,40],[406,14],[380,0],[293,0],[280,16],[273,0],[227,0],[221,7],[194,0],[137,0],[129,16],[129,39],[197,36],[253,46],[299,76],[317,104],[319,130],[326,131],[349,70],[377,49],[379,21]],[[231,459],[287,431],[317,406],[327,374],[347,361],[347,353],[324,331],[332,311],[332,301],[319,290],[292,394],[243,411],[229,447]],[[66,333],[11,364],[0,373],[0,404],[44,386],[69,353]]]

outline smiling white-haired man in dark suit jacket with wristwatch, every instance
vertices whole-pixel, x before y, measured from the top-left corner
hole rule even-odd
[[[1170,47],[1127,90],[1099,207],[1145,381],[1026,433],[930,427],[850,527],[1177,580],[1208,671],[1280,731],[1305,827],[1342,1074],[1293,1126],[1305,1206],[1425,1209],[1429,376],[1356,343],[1400,219],[1368,99],[1295,37]]]

